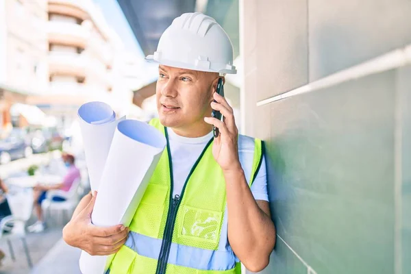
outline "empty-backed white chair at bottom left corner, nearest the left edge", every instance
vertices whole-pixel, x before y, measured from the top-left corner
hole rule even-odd
[[[10,249],[10,256],[15,261],[14,251],[11,240],[20,239],[23,242],[25,255],[29,267],[32,268],[32,259],[30,258],[29,249],[25,239],[25,225],[32,215],[33,210],[33,190],[31,188],[23,188],[23,190],[6,195],[11,216],[6,216],[0,222],[0,240],[7,240]]]

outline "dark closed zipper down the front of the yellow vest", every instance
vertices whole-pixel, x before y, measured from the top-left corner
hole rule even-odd
[[[160,251],[160,260],[157,265],[158,274],[165,274],[166,273],[166,264],[169,260],[171,242],[173,239],[173,232],[174,232],[174,225],[175,225],[175,217],[177,217],[177,211],[180,204],[180,197],[179,195],[175,195],[171,202],[171,209],[169,211],[169,216],[167,218],[167,225],[166,231],[164,232],[163,242],[162,242],[162,249]]]

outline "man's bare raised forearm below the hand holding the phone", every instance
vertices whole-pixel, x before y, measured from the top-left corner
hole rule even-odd
[[[259,208],[240,167],[225,172],[224,177],[229,243],[247,269],[260,271],[268,264],[275,244],[274,224]]]

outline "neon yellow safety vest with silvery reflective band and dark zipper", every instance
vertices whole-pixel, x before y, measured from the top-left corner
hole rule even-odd
[[[167,137],[158,119],[150,124]],[[253,166],[248,179],[250,186],[260,169],[262,149],[262,142],[256,139],[253,163],[246,163]],[[172,171],[167,140],[167,149],[129,226],[129,238],[110,264],[110,274],[240,273],[240,264],[227,236],[221,238],[225,180],[212,156],[212,140],[190,171],[181,199],[171,196]]]

